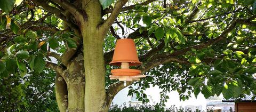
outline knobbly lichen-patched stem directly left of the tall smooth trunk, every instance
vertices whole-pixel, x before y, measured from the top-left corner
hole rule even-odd
[[[67,111],[84,111],[85,74],[83,66],[83,52],[78,53],[70,60],[67,70],[62,76],[67,82],[68,109]]]

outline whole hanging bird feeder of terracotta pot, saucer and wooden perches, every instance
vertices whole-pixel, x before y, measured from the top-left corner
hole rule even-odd
[[[146,77],[139,75],[140,70],[130,69],[130,66],[139,66],[139,61],[135,43],[133,39],[118,39],[112,61],[109,63],[114,66],[121,66],[121,69],[111,70],[110,79],[119,79],[119,81],[140,81],[140,78]]]

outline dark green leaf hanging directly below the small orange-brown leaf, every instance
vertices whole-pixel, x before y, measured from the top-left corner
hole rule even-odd
[[[34,61],[34,70],[38,73],[42,73],[45,68],[45,61],[42,54],[38,54]]]

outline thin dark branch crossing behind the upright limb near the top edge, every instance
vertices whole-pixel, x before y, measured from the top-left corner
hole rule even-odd
[[[127,10],[132,10],[132,9],[134,9],[135,6],[148,5],[149,3],[152,3],[154,1],[156,1],[156,0],[148,0],[148,1],[145,1],[145,2],[140,3],[140,4],[135,4],[135,5],[131,5],[131,6],[122,7],[121,12],[127,11]],[[103,14],[107,14],[107,13],[111,13],[111,12],[113,12],[113,10],[106,9],[106,10],[103,11]]]

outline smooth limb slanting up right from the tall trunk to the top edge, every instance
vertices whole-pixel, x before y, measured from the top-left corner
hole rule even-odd
[[[108,19],[101,25],[100,30],[106,31],[109,29],[109,27],[114,23],[116,20],[117,16],[119,15],[119,12],[121,11],[121,8],[128,2],[128,0],[119,0],[112,13],[109,15]]]

